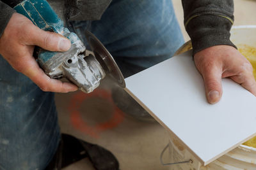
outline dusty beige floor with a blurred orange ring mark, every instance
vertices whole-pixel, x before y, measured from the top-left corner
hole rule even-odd
[[[234,25],[256,25],[256,1],[235,0]],[[175,12],[184,38],[189,39],[183,28],[180,0],[173,0]],[[120,162],[120,169],[168,169],[161,166],[159,155],[168,143],[168,135],[156,122],[141,122],[125,116],[116,108],[111,98],[111,88],[102,87],[92,94],[74,92],[56,94],[59,120],[63,132],[108,148]],[[127,103],[128,104],[128,103]],[[166,154],[166,161],[168,155]],[[84,159],[65,170],[93,169]]]

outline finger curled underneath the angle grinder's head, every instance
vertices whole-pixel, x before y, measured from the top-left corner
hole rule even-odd
[[[77,86],[68,82],[61,82],[49,78],[35,60],[29,60],[23,64],[22,73],[28,76],[40,89],[45,92],[73,92],[77,90]]]

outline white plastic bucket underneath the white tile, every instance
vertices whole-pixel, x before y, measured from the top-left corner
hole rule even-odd
[[[238,48],[240,45],[249,45],[256,48],[256,25],[233,27],[230,39]],[[189,46],[191,45],[188,42],[177,53],[188,50]],[[192,162],[172,165],[170,170],[256,170],[256,148],[246,145],[237,146],[237,148],[214,160],[207,166],[202,166],[175,137],[170,135],[169,153],[170,162],[187,160]]]

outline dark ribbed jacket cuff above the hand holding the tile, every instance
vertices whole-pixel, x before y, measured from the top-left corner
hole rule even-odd
[[[198,26],[199,25],[199,26]],[[198,15],[186,24],[192,46],[193,55],[215,45],[236,46],[230,41],[232,20],[219,15]]]

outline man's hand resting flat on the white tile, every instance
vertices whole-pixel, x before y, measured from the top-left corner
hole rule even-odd
[[[230,77],[256,96],[256,82],[250,62],[236,48],[218,45],[195,53],[195,65],[205,82],[205,95],[209,103],[220,101],[221,78]]]

